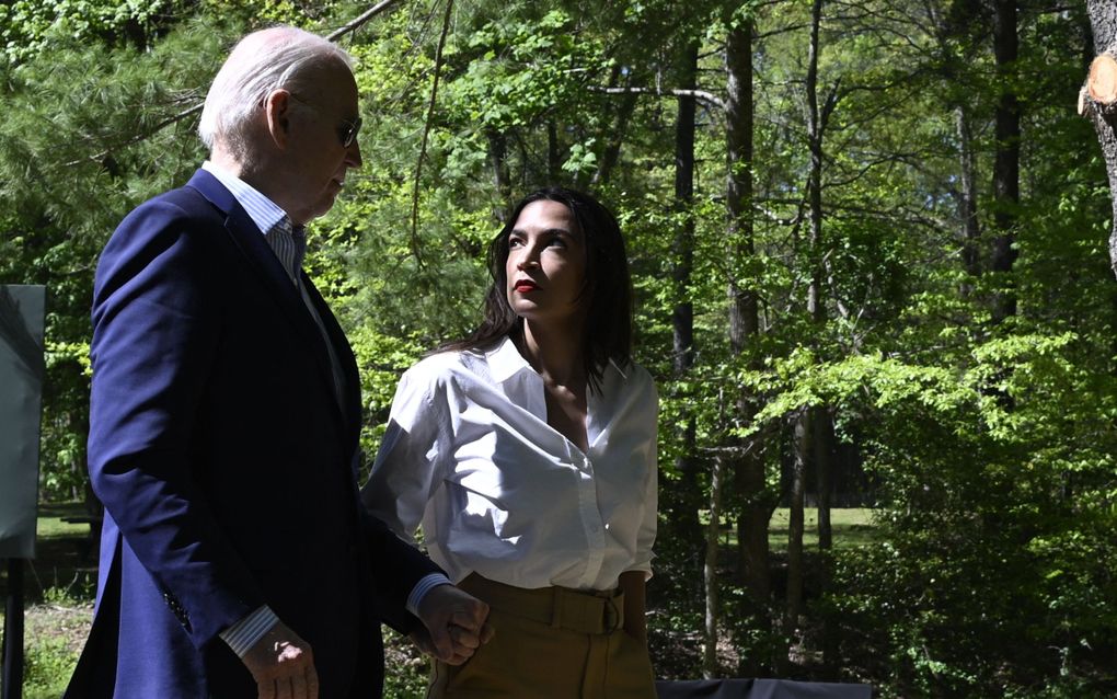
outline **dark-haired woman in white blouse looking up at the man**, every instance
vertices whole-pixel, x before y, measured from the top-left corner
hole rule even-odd
[[[436,663],[429,697],[655,697],[657,396],[624,243],[567,189],[510,220],[480,327],[403,375],[364,501],[490,605],[493,640]]]

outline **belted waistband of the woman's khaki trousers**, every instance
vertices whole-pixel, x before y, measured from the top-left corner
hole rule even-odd
[[[458,587],[507,614],[577,633],[607,634],[624,625],[624,593],[541,587],[527,589],[497,583],[476,573]]]

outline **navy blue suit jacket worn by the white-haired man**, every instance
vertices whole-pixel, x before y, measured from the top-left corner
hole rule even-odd
[[[105,504],[97,608],[68,697],[255,697],[218,633],[268,604],[309,642],[323,699],[379,696],[380,622],[429,559],[360,504],[342,363],[267,242],[209,172],[136,208],[93,305],[89,474]]]

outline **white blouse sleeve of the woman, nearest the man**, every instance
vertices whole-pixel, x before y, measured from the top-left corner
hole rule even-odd
[[[420,362],[400,379],[384,440],[361,490],[369,511],[410,544],[450,452],[445,381],[430,369]]]

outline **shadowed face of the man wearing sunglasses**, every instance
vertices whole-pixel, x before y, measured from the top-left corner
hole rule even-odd
[[[350,168],[361,167],[361,147],[345,134],[357,123],[356,83],[341,62],[323,67],[311,87],[290,93],[288,157],[294,202],[288,215],[296,226],[322,216],[334,205]]]

